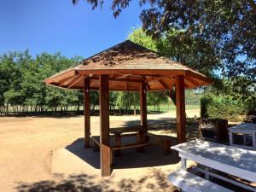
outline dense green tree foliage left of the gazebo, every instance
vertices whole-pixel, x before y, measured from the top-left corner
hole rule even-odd
[[[81,105],[83,94],[79,91],[56,89],[43,82],[50,75],[73,66],[78,59],[68,59],[60,53],[43,53],[32,58],[27,50],[0,55],[0,108],[19,106],[22,111],[28,107],[44,111]]]

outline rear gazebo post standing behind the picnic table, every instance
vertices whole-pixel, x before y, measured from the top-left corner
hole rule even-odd
[[[138,131],[137,133],[137,143],[145,143],[146,135],[148,131],[147,126],[147,95],[146,95],[146,84],[144,82],[140,85],[140,115],[141,115],[141,125],[143,126],[143,131]],[[143,152],[144,148],[137,148],[137,152]]]

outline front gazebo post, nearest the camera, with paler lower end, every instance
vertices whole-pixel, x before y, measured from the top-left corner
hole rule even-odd
[[[109,85],[108,75],[100,75],[100,130],[102,177],[111,174],[111,150],[109,148]]]

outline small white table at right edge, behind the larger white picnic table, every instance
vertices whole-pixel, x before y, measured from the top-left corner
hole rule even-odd
[[[240,125],[234,125],[229,128],[229,131],[230,131],[230,145],[231,146],[256,150],[256,124],[242,123]],[[234,143],[234,139],[233,139],[234,134],[243,135],[243,144],[242,145],[237,145],[236,143]],[[247,139],[246,139],[247,135],[252,136],[253,146],[247,145]]]

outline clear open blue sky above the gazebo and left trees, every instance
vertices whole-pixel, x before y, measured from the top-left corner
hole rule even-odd
[[[0,55],[29,49],[33,56],[60,51],[86,58],[119,44],[141,26],[141,8],[131,1],[114,19],[110,2],[92,10],[83,0],[0,0]]]

